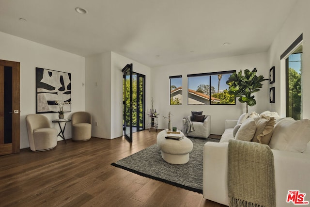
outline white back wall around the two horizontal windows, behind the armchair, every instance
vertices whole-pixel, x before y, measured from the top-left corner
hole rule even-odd
[[[237,119],[240,114],[246,111],[246,105],[236,100],[236,105],[187,105],[187,93],[183,90],[183,105],[170,105],[170,83],[169,76],[182,75],[183,89],[187,89],[187,75],[218,72],[227,70],[258,70],[258,75],[269,78],[269,68],[267,67],[267,53],[256,53],[242,56],[206,60],[200,62],[175,64],[152,68],[152,94],[154,97],[154,108],[160,113],[158,118],[159,128],[167,128],[168,120],[163,118],[171,111],[173,114],[172,126],[182,127],[182,119],[190,115],[191,111],[203,111],[203,114],[211,115],[211,134],[222,134],[226,119]],[[263,82],[260,92],[254,94],[257,104],[249,107],[248,111],[263,112],[268,109],[269,102],[268,82]]]

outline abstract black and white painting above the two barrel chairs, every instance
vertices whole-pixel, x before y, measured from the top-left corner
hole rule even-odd
[[[71,111],[71,73],[35,68],[36,75],[36,113],[53,113],[59,111],[58,102],[64,112]]]

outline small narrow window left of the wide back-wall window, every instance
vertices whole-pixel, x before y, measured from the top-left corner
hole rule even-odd
[[[182,76],[171,76],[170,105],[182,105]]]

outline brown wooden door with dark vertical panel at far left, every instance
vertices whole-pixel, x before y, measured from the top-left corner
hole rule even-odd
[[[19,152],[19,63],[0,60],[0,155]]]

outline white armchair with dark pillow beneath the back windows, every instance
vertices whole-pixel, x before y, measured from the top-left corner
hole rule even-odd
[[[190,120],[190,116],[187,116]],[[211,129],[211,115],[205,115],[203,122],[192,121],[194,131],[190,131],[186,136],[188,137],[199,137],[199,138],[208,138],[210,136]],[[186,128],[186,119],[182,120],[182,131],[185,132]]]

